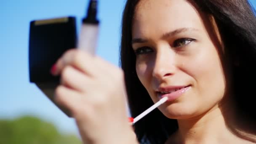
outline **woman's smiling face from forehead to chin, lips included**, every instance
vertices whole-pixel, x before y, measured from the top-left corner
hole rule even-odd
[[[208,18],[187,0],[141,0],[136,6],[136,72],[154,102],[168,97],[160,110],[169,118],[198,116],[224,96],[220,38]]]

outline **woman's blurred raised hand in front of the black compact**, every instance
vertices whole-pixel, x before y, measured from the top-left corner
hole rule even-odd
[[[55,101],[69,109],[86,144],[135,144],[128,123],[123,71],[103,59],[72,49],[56,62],[61,75]]]

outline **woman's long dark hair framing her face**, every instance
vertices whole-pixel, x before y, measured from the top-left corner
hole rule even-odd
[[[231,66],[234,99],[243,116],[256,120],[253,101],[256,83],[256,18],[247,0],[189,0],[200,11],[216,21],[225,48],[238,65]],[[136,75],[136,56],[131,46],[132,22],[139,0],[127,0],[123,12],[120,64],[125,73],[125,85],[131,115],[136,117],[153,102]],[[178,129],[177,121],[165,117],[158,109],[135,124],[140,143],[163,144]]]

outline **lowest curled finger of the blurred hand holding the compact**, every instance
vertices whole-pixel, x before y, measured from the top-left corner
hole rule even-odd
[[[81,105],[86,105],[85,101],[82,101],[82,95],[79,92],[73,91],[63,85],[59,85],[56,88],[54,101],[69,109],[72,116],[76,115],[77,110],[80,109]]]

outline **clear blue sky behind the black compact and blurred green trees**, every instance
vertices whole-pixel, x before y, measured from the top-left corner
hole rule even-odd
[[[256,6],[256,0],[251,0]],[[118,66],[120,24],[125,0],[100,0],[101,20],[97,54]],[[77,133],[72,118],[62,113],[29,83],[29,22],[60,16],[76,16],[77,29],[88,0],[0,1],[0,118],[34,115],[55,124],[64,133]]]

